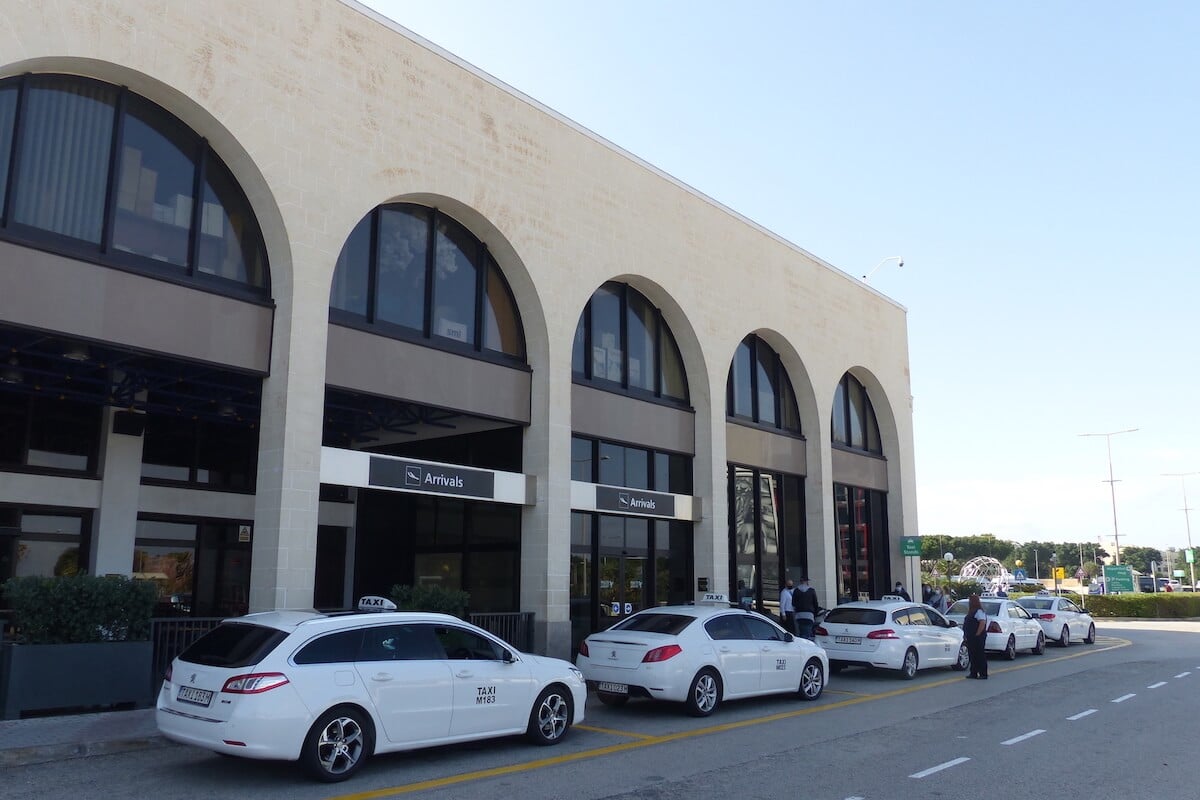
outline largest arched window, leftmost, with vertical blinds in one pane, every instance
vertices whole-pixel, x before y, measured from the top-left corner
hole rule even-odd
[[[0,236],[270,296],[258,221],[208,142],[149,100],[90,78],[0,80]]]

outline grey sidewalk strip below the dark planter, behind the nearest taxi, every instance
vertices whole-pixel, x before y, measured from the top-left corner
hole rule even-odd
[[[0,770],[168,746],[152,708],[0,720]]]

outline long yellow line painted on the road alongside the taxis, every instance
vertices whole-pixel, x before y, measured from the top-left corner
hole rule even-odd
[[[1027,667],[1033,667],[1037,664],[1052,663],[1055,661],[1066,661],[1068,658],[1079,658],[1080,656],[1086,656],[1093,652],[1104,652],[1105,650],[1116,650],[1118,648],[1128,646],[1133,644],[1128,639],[1118,639],[1114,637],[1116,644],[1109,646],[1097,648],[1088,646],[1080,652],[1074,652],[1070,655],[1062,655],[1055,658],[1038,658],[1037,661],[1031,661],[1024,664],[1016,664],[1013,667],[1006,667],[1003,669],[995,669],[990,672],[1006,673],[1014,672],[1016,669],[1025,669]],[[385,787],[383,789],[371,789],[368,792],[358,792],[355,794],[342,794],[335,798],[329,798],[329,800],[374,800],[376,798],[395,798],[402,794],[412,794],[413,792],[424,792],[426,789],[439,789],[448,786],[455,786],[457,783],[468,783],[470,781],[480,781],[490,777],[500,777],[503,775],[514,775],[516,772],[529,772],[533,770],[544,769],[546,766],[556,766],[558,764],[569,764],[571,762],[580,762],[587,758],[599,758],[601,756],[612,756],[613,753],[620,753],[630,750],[638,750],[642,747],[650,747],[653,745],[664,745],[672,741],[682,741],[684,739],[695,739],[696,736],[707,736],[714,733],[724,733],[726,730],[738,730],[739,728],[749,728],[751,726],[763,724],[767,722],[778,722],[780,720],[788,720],[791,717],[808,716],[810,714],[818,714],[824,711],[832,711],[834,709],[844,709],[851,705],[858,705],[860,703],[866,703],[870,700],[882,700],[889,697],[900,697],[901,694],[912,694],[913,692],[922,692],[926,688],[934,688],[936,686],[948,686],[949,684],[956,684],[961,680],[960,676],[944,678],[942,680],[934,681],[931,684],[919,684],[916,686],[906,686],[904,688],[894,688],[888,692],[881,692],[878,694],[858,694],[845,700],[838,700],[836,703],[823,703],[821,705],[812,705],[806,709],[798,709],[796,711],[780,711],[779,714],[772,714],[764,717],[754,717],[750,720],[740,720],[737,722],[724,722],[721,724],[709,726],[707,728],[697,728],[695,730],[680,730],[678,733],[668,733],[659,736],[647,735],[647,734],[635,734],[635,733],[622,733],[617,730],[607,730],[604,728],[593,728],[589,726],[578,726],[587,730],[598,730],[601,733],[613,733],[622,736],[638,736],[635,741],[623,741],[616,745],[607,745],[605,747],[594,747],[592,750],[582,750],[574,753],[564,753],[562,756],[554,756],[551,758],[539,758],[533,762],[524,762],[522,764],[510,764],[508,766],[496,766],[486,770],[476,770],[474,772],[462,772],[460,775],[451,775],[449,777],[433,778],[430,781],[420,781],[419,783],[406,783],[404,786]]]

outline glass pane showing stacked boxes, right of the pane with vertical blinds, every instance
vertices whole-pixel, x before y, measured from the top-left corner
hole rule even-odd
[[[113,248],[187,266],[196,134],[139,97],[130,97],[122,126]]]

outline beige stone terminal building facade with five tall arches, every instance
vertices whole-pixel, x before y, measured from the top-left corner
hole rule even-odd
[[[0,577],[440,582],[560,656],[908,583],[894,301],[355,2],[5,18]]]

